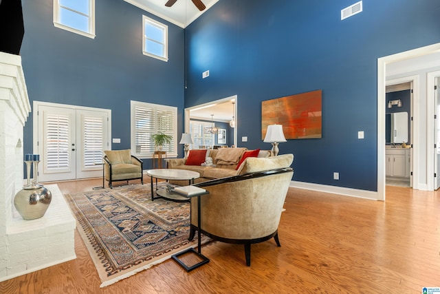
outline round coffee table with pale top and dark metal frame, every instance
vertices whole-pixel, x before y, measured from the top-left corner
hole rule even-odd
[[[149,169],[146,174],[151,177],[151,201],[156,198],[166,198],[177,202],[188,201],[189,198],[176,193],[169,193],[166,189],[157,189],[157,179],[161,180],[188,180],[188,185],[194,184],[196,178],[200,178],[197,171],[186,171],[184,169]],[[156,197],[154,196],[153,178],[156,180]]]

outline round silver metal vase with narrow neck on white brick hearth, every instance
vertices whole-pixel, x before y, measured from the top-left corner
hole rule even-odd
[[[36,160],[28,160],[28,156],[34,156]],[[52,201],[52,193],[43,185],[39,185],[37,180],[37,171],[39,165],[39,156],[26,154],[26,167],[28,171],[28,185],[17,192],[14,197],[14,206],[19,211],[24,220],[35,220],[41,218],[47,211]],[[30,167],[34,165],[34,178],[30,180]]]

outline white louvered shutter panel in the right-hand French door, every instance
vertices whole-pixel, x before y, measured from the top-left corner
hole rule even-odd
[[[100,116],[83,116],[83,168],[102,163],[104,121]]]

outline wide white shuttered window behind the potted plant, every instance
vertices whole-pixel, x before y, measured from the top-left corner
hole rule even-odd
[[[131,101],[131,153],[152,157],[159,132],[173,137],[162,149],[166,156],[177,156],[177,107]]]

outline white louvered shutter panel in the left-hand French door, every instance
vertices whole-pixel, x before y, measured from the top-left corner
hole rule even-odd
[[[66,171],[70,167],[71,117],[64,114],[45,113],[45,170]]]

